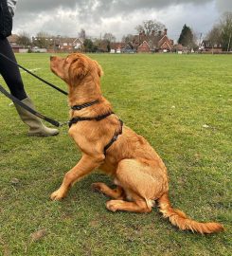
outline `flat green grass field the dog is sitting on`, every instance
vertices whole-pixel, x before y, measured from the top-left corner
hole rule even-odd
[[[124,122],[164,159],[170,200],[225,232],[192,234],[152,213],[112,213],[90,190],[91,174],[62,202],[49,200],[80,158],[62,127],[58,137],[27,137],[10,101],[0,95],[0,255],[231,255],[232,57],[91,55],[102,65],[105,97]],[[63,89],[46,54],[18,54],[20,64]],[[65,96],[22,72],[37,109],[68,119]],[[0,79],[1,84],[5,84]],[[36,231],[44,230],[44,235]]]

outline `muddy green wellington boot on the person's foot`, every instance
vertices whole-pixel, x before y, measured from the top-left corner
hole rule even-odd
[[[35,109],[34,104],[29,98],[24,99],[22,102],[27,104],[30,108]],[[28,136],[46,137],[59,134],[59,130],[46,127],[39,118],[28,112],[26,109],[17,104],[14,105],[20,118],[29,126]]]

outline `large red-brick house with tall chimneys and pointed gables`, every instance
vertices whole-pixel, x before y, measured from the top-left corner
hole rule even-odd
[[[146,35],[145,31],[142,31],[134,36],[132,44],[137,52],[170,52],[173,50],[173,40],[168,37],[167,32],[167,28],[158,34],[152,30],[151,35]]]

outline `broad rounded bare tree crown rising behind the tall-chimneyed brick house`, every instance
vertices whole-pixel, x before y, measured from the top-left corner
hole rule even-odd
[[[164,28],[165,25],[156,20],[143,21],[142,25],[138,25],[135,27],[138,33],[145,31],[147,36],[150,36],[152,34],[152,30],[155,34],[157,34],[159,31],[164,30]]]

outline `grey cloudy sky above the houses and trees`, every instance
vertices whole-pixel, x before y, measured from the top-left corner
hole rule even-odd
[[[77,37],[83,28],[88,36],[111,32],[119,41],[135,34],[142,21],[155,19],[177,40],[184,24],[204,36],[227,10],[232,0],[18,0],[13,32]]]

